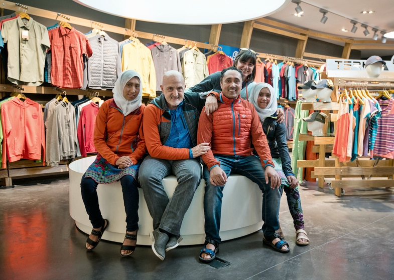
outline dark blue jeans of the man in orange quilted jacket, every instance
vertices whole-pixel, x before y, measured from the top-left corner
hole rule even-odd
[[[220,162],[220,168],[227,177],[231,173],[236,173],[249,178],[256,183],[262,191],[262,232],[264,236],[270,236],[279,228],[279,206],[281,202],[281,189],[272,189],[271,182],[266,183],[264,168],[256,156],[226,156],[214,155]],[[214,186],[209,182],[210,172],[204,165],[205,194],[204,194],[204,215],[205,215],[205,240],[213,239],[220,243],[220,217],[222,209],[222,197],[224,186]],[[234,205],[236,207],[236,205]]]

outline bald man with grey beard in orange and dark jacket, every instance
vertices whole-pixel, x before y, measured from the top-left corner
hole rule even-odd
[[[200,184],[200,156],[210,148],[197,145],[197,124],[205,97],[198,93],[184,94],[185,80],[177,71],[168,71],[160,86],[163,94],[144,111],[144,136],[149,156],[141,164],[139,182],[154,231],[149,235],[156,256],[164,260],[166,252],[178,246],[183,216]],[[177,177],[178,186],[171,200],[162,180]]]

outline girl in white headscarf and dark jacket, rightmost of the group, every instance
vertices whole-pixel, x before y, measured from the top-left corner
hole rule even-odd
[[[282,177],[282,190],[286,192],[289,210],[293,217],[297,244],[308,245],[309,239],[304,230],[304,216],[300,193],[298,192],[298,180],[293,173],[287,147],[286,125],[276,121],[278,103],[273,87],[266,83],[256,84],[249,95],[249,102],[254,105],[260,117],[262,130],[267,135],[275,169]],[[277,233],[283,238],[281,228],[277,230]]]

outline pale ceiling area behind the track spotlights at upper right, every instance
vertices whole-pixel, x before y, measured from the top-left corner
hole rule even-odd
[[[372,28],[377,28],[379,30],[377,44],[380,43],[380,31],[394,31],[393,0],[302,0],[300,6],[304,11],[303,17],[299,18],[293,16],[293,14],[296,13],[295,8],[297,5],[290,2],[285,8],[272,14],[268,18],[303,29],[310,29],[356,40],[372,40]],[[328,18],[326,24],[320,23],[323,14],[319,12],[319,9],[329,11],[326,15]],[[362,11],[374,11],[374,13],[361,14]],[[356,33],[350,32],[353,27],[350,20],[355,20],[359,23],[356,25],[356,27],[358,27]],[[363,34],[365,29],[361,27],[361,24],[366,24],[368,26],[369,35],[367,37]],[[340,31],[342,28],[349,30],[349,32]],[[390,39],[387,39],[387,41],[390,41]],[[343,43],[341,44],[337,41],[330,41],[330,43],[343,45]],[[376,52],[378,52],[380,56],[394,54],[394,50],[375,50],[372,52],[369,50],[362,50],[362,56],[369,53],[374,55]]]

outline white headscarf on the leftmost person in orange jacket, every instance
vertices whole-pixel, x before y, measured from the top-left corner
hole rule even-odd
[[[126,83],[134,77],[138,77],[138,79],[140,80],[140,93],[134,100],[128,101],[123,96],[123,89]],[[113,100],[115,101],[116,106],[119,107],[120,110],[122,110],[124,116],[127,116],[131,112],[137,110],[142,104],[142,81],[140,74],[133,70],[123,71],[122,73],[120,73],[119,78],[117,78],[115,82],[115,87],[112,89],[112,92]]]

